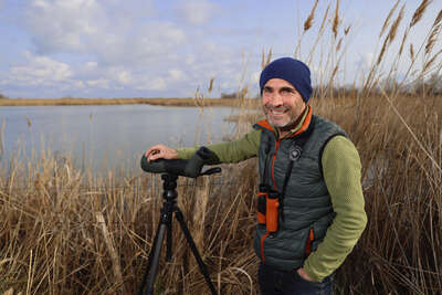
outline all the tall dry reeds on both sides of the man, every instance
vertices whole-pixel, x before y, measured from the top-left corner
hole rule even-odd
[[[333,13],[328,6],[319,18],[315,2],[304,25],[306,35],[315,20],[322,20],[312,40],[333,46],[317,60],[316,48],[305,56],[323,69],[312,105],[347,130],[362,162],[369,222],[337,272],[338,294],[442,289],[442,97],[401,94],[408,81],[424,85],[425,76],[440,71],[435,62],[424,66],[439,59],[434,30],[440,30],[440,20],[429,28],[422,45],[407,41],[429,2],[422,1],[408,23],[399,2],[392,3],[382,22],[383,43],[362,87],[351,95],[333,92],[340,86],[336,73],[345,72],[341,61],[351,38],[339,2]],[[401,23],[406,28],[399,50],[410,48],[410,56],[398,52],[386,71],[386,52],[392,50]],[[296,56],[303,57],[297,48]],[[272,51],[263,54],[263,66],[271,57]],[[406,57],[406,77],[387,89],[385,78],[397,80],[397,65]],[[250,110],[250,105],[243,108],[232,137],[244,134],[259,117]],[[136,294],[159,221],[159,177],[124,171],[93,177],[72,161],[44,154],[36,162],[12,159],[0,169],[0,293]],[[257,294],[252,251],[256,181],[253,159],[223,166],[221,176],[179,179],[178,206],[220,294]],[[172,232],[173,257],[170,263],[161,260],[157,294],[209,294],[177,222]]]

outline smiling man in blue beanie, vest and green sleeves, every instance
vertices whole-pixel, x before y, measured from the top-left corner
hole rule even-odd
[[[261,73],[266,119],[243,138],[211,145],[213,164],[259,157],[262,294],[332,294],[333,276],[361,235],[367,215],[360,159],[336,124],[313,115],[311,72],[283,57]],[[190,158],[197,148],[157,145],[148,160]]]

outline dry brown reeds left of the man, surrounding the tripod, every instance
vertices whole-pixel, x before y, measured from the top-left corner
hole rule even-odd
[[[136,294],[162,204],[157,176],[92,178],[50,155],[33,165],[11,161],[2,173],[0,292]],[[254,214],[249,188],[255,183],[229,181],[180,179],[178,206],[215,284],[223,292],[245,292],[253,278],[243,268],[255,265],[249,243]],[[208,291],[177,222],[173,261],[161,264],[158,282],[168,294]]]

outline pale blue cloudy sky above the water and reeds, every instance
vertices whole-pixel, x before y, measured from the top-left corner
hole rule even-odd
[[[339,2],[339,35],[351,28],[340,62],[343,83],[367,73],[385,38],[379,38],[383,20],[396,2]],[[394,15],[404,6],[403,22],[409,22],[420,2],[399,1]],[[315,36],[327,6],[332,15],[336,0],[318,1],[314,27],[302,35],[314,3],[0,0],[0,94],[11,98],[219,97],[246,86],[254,95],[263,51],[272,50],[272,60],[294,56],[299,44],[296,57],[301,60],[308,59],[312,48],[316,61],[327,56],[332,32],[319,44]],[[415,49],[441,9],[442,1],[432,1],[412,29],[408,42]],[[440,49],[438,41],[433,51]],[[387,63],[393,59],[394,51],[386,53]],[[409,62],[403,59],[399,71],[407,72]],[[324,78],[324,63],[309,65],[314,83]]]

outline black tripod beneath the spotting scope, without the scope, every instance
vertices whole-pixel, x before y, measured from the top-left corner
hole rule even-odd
[[[206,267],[204,262],[201,259],[201,255],[198,252],[197,245],[193,242],[193,239],[189,232],[188,226],[186,225],[185,218],[182,215],[181,210],[177,207],[177,179],[178,176],[171,173],[161,175],[162,183],[162,198],[164,203],[161,208],[161,217],[159,220],[159,225],[157,229],[157,233],[154,239],[154,247],[150,250],[149,259],[146,267],[146,273],[143,277],[143,283],[139,288],[138,295],[154,294],[154,283],[155,276],[157,275],[158,271],[158,263],[161,253],[161,246],[165,239],[165,234],[167,233],[166,240],[166,261],[170,261],[172,256],[172,214],[177,218],[182,232],[185,233],[186,240],[192,250],[193,256],[198,262],[198,266],[200,268],[201,274],[204,276],[207,284],[212,293],[212,295],[217,295],[217,291],[210,280],[209,272]],[[146,293],[146,283],[147,283],[147,291]]]

